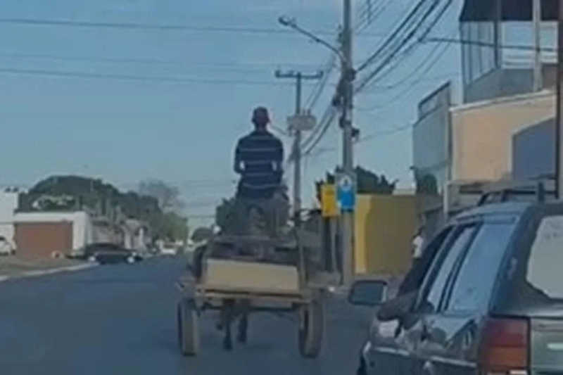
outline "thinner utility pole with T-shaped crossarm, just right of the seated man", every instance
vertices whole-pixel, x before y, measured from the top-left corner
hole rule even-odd
[[[302,72],[276,71],[276,78],[291,78],[296,80],[295,113],[301,115],[301,83],[303,80],[320,80],[323,72],[305,75]],[[293,217],[296,224],[301,222],[301,129],[293,129]]]

